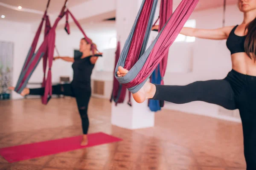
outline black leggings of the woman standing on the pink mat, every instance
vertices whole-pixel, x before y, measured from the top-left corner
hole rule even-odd
[[[32,88],[29,90],[29,95],[44,95],[44,88]],[[89,128],[87,110],[91,96],[90,83],[85,85],[84,88],[74,88],[71,84],[53,85],[52,94],[63,94],[65,96],[72,96],[76,98],[76,103],[81,116],[83,133],[87,134]]]

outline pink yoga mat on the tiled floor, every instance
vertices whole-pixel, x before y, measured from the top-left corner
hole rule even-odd
[[[13,147],[0,148],[0,155],[10,163],[32,159],[41,156],[52,155],[70,150],[92,147],[99,144],[118,142],[122,139],[110,136],[105,133],[88,134],[89,143],[87,146],[80,146],[82,136],[56,139],[32,144],[23,144]]]

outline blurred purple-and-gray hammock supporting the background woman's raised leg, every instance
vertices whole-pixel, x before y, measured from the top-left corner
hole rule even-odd
[[[65,2],[65,4],[66,4],[66,2]],[[42,97],[42,103],[43,104],[47,104],[47,102],[49,101],[49,99],[52,96],[51,67],[52,67],[53,52],[54,52],[54,47],[55,47],[55,28],[57,27],[58,22],[64,16],[65,8],[66,8],[66,6],[64,5],[62,10],[61,10],[61,13],[58,16],[58,18],[55,20],[55,23],[52,26],[52,28],[50,28],[49,18],[47,17],[47,14],[45,12],[43,19],[46,19],[46,26],[47,27],[46,27],[46,30],[45,30],[44,41],[41,44],[41,46],[39,47],[38,51],[34,54],[36,44],[38,42],[38,38],[40,36],[40,32],[41,32],[43,22],[44,22],[44,20],[42,20],[42,22],[41,22],[41,24],[38,28],[38,31],[35,35],[35,38],[33,40],[32,47],[29,50],[28,57],[27,57],[24,65],[23,65],[23,69],[21,71],[20,78],[19,78],[19,80],[17,82],[17,85],[16,85],[16,88],[15,88],[15,91],[17,91],[18,93],[21,93],[21,91],[26,87],[26,84],[27,84],[29,78],[31,77],[33,71],[35,70],[36,66],[40,62],[40,59],[42,57],[44,57],[44,61],[43,61],[44,79],[43,79],[42,86],[45,87],[45,90],[44,90],[44,96]],[[47,78],[45,78],[47,59],[48,59],[48,72],[47,72]]]

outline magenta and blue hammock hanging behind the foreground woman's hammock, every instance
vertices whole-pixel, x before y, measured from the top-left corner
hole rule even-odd
[[[166,24],[169,17],[172,16],[172,0],[161,0],[160,4],[160,15],[158,17],[159,19],[159,28],[158,31],[160,31],[163,26]],[[157,20],[158,20],[157,19]],[[154,23],[154,25],[156,22]],[[166,66],[167,66],[167,60],[168,60],[168,50],[167,53],[164,55],[163,59],[160,61],[159,65],[157,65],[157,68],[154,70],[150,77],[150,82],[154,84],[161,84],[163,85],[163,77],[166,72]],[[161,108],[164,106],[163,101],[159,100],[148,100],[148,107],[151,111],[160,111]]]

